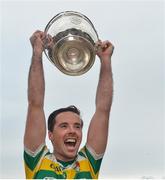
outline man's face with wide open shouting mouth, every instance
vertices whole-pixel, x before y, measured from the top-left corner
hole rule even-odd
[[[62,161],[73,160],[82,140],[80,116],[70,111],[58,114],[53,132],[49,132],[49,139],[52,141],[57,159]]]

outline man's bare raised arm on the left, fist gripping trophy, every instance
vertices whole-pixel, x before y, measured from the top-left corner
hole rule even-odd
[[[30,38],[33,52],[28,78],[28,113],[24,146],[32,152],[35,152],[45,142],[46,137],[46,122],[43,110],[45,81],[42,64],[45,39],[46,34],[41,31],[36,31]]]

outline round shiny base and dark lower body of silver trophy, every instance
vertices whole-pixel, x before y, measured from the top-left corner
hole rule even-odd
[[[48,50],[50,61],[63,73],[71,76],[87,72],[95,60],[95,43],[81,30],[72,28],[53,37],[54,46]]]

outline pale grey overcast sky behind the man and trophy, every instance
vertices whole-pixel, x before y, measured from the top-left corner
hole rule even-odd
[[[57,13],[86,15],[114,46],[114,99],[100,178],[165,179],[165,5],[163,1],[0,1],[0,178],[24,179],[30,36]],[[60,72],[43,55],[45,115],[71,104],[82,112],[85,144],[95,111],[99,59],[84,75]],[[99,135],[99,132],[98,132]],[[51,143],[47,139],[50,149]]]

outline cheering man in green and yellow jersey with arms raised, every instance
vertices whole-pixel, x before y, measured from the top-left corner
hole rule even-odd
[[[113,82],[111,56],[113,45],[98,42],[100,76],[96,92],[96,110],[90,122],[87,141],[79,150],[83,121],[80,111],[69,106],[54,111],[48,118],[48,136],[53,145],[50,153],[45,145],[44,71],[42,53],[52,38],[36,31],[30,38],[33,53],[28,79],[28,113],[24,135],[26,178],[97,179],[107,145]]]

